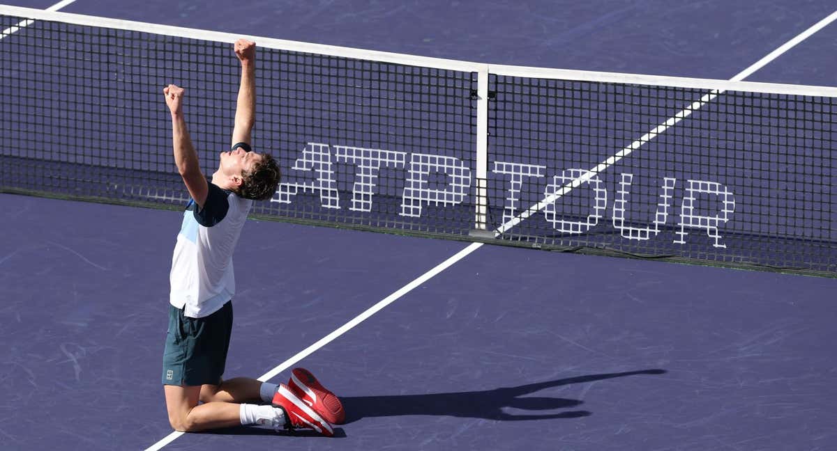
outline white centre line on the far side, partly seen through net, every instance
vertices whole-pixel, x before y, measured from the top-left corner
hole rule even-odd
[[[802,41],[804,41],[804,39],[809,38],[812,34],[818,32],[819,30],[821,30],[822,28],[827,26],[829,23],[834,22],[834,19],[837,19],[837,11],[834,11],[834,13],[829,14],[828,17],[824,18],[823,20],[820,20],[818,23],[814,23],[814,25],[812,25],[810,28],[808,28],[804,32],[799,33],[795,38],[789,40],[787,43],[784,43],[781,47],[777,48],[776,50],[773,50],[773,52],[768,53],[767,56],[765,56],[762,59],[759,59],[756,63],[753,63],[750,67],[742,70],[740,73],[737,73],[737,75],[732,77],[732,79],[730,79],[730,81],[741,81],[742,79],[745,79],[745,78],[749,77],[750,75],[752,75],[752,73],[756,72],[758,69],[763,68],[765,65],[767,65],[768,63],[770,63],[774,59],[778,58],[783,53],[785,53],[788,50],[790,50],[791,48],[795,47],[798,43],[801,43]],[[622,160],[624,157],[626,157],[628,155],[631,155],[632,153],[634,153],[634,150],[639,149],[640,147],[642,147],[643,144],[649,142],[651,139],[655,139],[657,137],[657,135],[659,135],[659,134],[665,132],[665,130],[670,129],[671,127],[675,126],[675,124],[677,124],[681,120],[686,119],[692,113],[694,113],[696,110],[701,109],[703,107],[703,105],[711,102],[713,99],[715,99],[718,95],[722,94],[723,92],[724,91],[722,91],[722,90],[717,90],[716,89],[716,90],[710,91],[708,94],[705,94],[703,97],[701,97],[700,100],[698,100],[695,103],[689,105],[688,107],[686,107],[686,109],[683,109],[679,113],[677,113],[674,116],[672,116],[671,118],[667,119],[664,123],[662,123],[660,125],[657,125],[654,129],[652,129],[650,132],[642,135],[642,137],[635,140],[629,146],[625,147],[624,149],[619,150],[619,152],[617,152],[616,155],[613,155],[610,158],[608,158],[607,160],[604,160],[603,162],[599,163],[598,165],[593,167],[593,169],[588,170],[584,175],[582,175],[581,177],[578,177],[578,179],[574,179],[573,181],[567,183],[566,185],[563,185],[560,190],[557,190],[552,195],[548,195],[545,199],[541,200],[537,204],[531,205],[529,208],[524,210],[520,215],[517,215],[516,217],[511,218],[511,220],[506,221],[506,223],[503,224],[502,226],[497,227],[496,231],[494,231],[494,236],[495,237],[496,236],[501,236],[502,234],[506,233],[506,231],[508,231],[512,227],[520,224],[526,218],[530,217],[531,215],[534,215],[535,213],[537,213],[540,210],[543,210],[544,208],[547,207],[547,205],[550,205],[550,204],[554,203],[556,200],[561,198],[563,195],[566,195],[568,192],[578,188],[578,186],[582,185],[584,182],[593,178],[594,175],[597,175],[598,173],[602,172],[603,170],[607,170],[610,166],[615,165],[619,160]]]

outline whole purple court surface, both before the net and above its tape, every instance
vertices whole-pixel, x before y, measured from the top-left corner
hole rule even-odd
[[[727,79],[833,5],[724,8],[733,7],[79,0],[62,11],[490,63]],[[824,28],[750,79],[837,84],[835,33]],[[159,373],[182,213],[18,195],[0,195],[0,206],[0,448],[136,449],[166,437]],[[250,221],[235,256],[226,376],[269,372],[466,246]],[[164,449],[829,449],[835,287],[482,246],[296,364],[343,398],[347,424],[336,438],[234,428],[184,434]]]

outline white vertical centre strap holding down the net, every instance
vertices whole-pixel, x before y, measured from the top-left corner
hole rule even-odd
[[[488,65],[476,72],[475,218],[470,236],[494,237],[487,228],[488,213]]]

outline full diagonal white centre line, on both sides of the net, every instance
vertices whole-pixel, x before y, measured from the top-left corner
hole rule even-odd
[[[804,38],[808,38],[811,34],[815,33],[820,28],[823,28],[826,25],[828,25],[829,23],[833,22],[835,18],[837,18],[837,11],[832,13],[828,18],[824,18],[822,21],[820,21],[819,23],[814,25],[814,27],[809,28],[804,33],[801,33],[800,35],[798,35],[796,38],[793,38],[791,41],[788,41],[788,43],[785,43],[782,47],[778,48],[777,51],[774,51],[773,53],[770,53],[768,55],[769,58],[768,57],[762,58],[757,63],[750,66],[749,68],[744,69],[744,71],[742,71],[742,73],[739,73],[736,77],[733,77],[733,79],[736,79],[737,77],[740,77],[740,76],[741,77],[746,77],[746,76],[752,74],[753,72],[758,70],[758,68],[762,68],[765,64],[767,64],[770,61],[772,61],[773,59],[777,58],[782,53],[787,52],[788,49],[793,48],[793,46],[802,42],[802,40]],[[812,29],[813,29],[813,31],[811,31]],[[800,37],[802,37],[802,38],[800,38]],[[778,50],[781,50],[781,52],[779,52]],[[714,96],[716,96],[716,94],[712,94],[712,93],[706,94],[703,98],[701,98],[701,101],[696,102],[695,104],[700,104],[700,102],[702,102],[704,99],[706,99],[707,96],[712,96],[712,99],[714,99]],[[711,100],[711,99],[707,99],[706,101],[708,102],[709,100]],[[692,104],[690,106],[690,108],[692,108],[695,104]],[[662,131],[665,131],[665,129],[668,129],[670,126],[676,124],[677,122],[680,122],[680,120],[687,117],[689,114],[691,114],[692,111],[694,111],[694,109],[691,109],[691,110],[690,109],[684,109],[679,114],[675,114],[674,118],[671,118],[671,119],[665,121],[664,124],[660,124],[654,130],[651,130],[648,134],[646,134],[644,136],[644,138],[646,136],[650,137],[651,134],[653,134],[653,136],[656,136],[656,134],[662,133]],[[683,117],[678,118],[678,115],[683,115]],[[669,124],[670,122],[671,122],[671,124]],[[665,127],[665,128],[660,130],[660,127]],[[640,138],[638,141],[640,141],[641,139],[642,138]],[[642,144],[642,142],[639,142],[639,144],[637,144],[636,147],[638,148],[641,144]],[[634,145],[634,144],[632,144],[632,145]],[[596,166],[596,168],[598,168],[600,166],[603,166],[603,165],[604,165],[603,166],[604,168],[607,168],[608,166],[613,165],[614,163],[616,163],[616,161],[619,161],[622,158],[624,158],[625,156],[630,155],[630,153],[633,152],[633,151],[634,151],[634,149],[631,149],[631,147],[629,146],[629,147],[623,149],[621,152],[619,152],[619,154],[609,158],[608,160],[603,161],[603,163]],[[620,154],[624,154],[624,155],[620,155]],[[593,170],[595,170],[596,168],[593,168]],[[573,185],[573,184],[571,183],[571,184],[567,184],[567,185]],[[580,183],[578,185],[580,185]],[[572,190],[574,187],[575,186],[573,186],[572,188],[567,189],[567,192],[569,190]],[[564,188],[567,188],[567,186],[565,186]],[[557,197],[556,197],[556,199],[557,199]],[[538,204],[538,205],[540,205],[540,204]],[[530,207],[530,210],[531,210],[531,208],[532,207]],[[526,217],[528,217],[528,216],[526,216]],[[503,225],[503,226],[506,226],[506,225]],[[501,228],[502,228],[502,226],[501,226]],[[269,372],[264,373],[264,375],[262,375],[259,378],[259,381],[264,382],[264,381],[269,380],[270,378],[275,377],[277,374],[279,374],[282,371],[285,371],[285,369],[287,369],[288,367],[290,367],[294,363],[299,362],[301,359],[311,355],[311,353],[316,352],[321,347],[326,346],[326,344],[333,341],[336,337],[340,337],[342,334],[351,330],[352,327],[357,326],[358,324],[360,324],[361,322],[366,320],[368,317],[372,317],[372,315],[374,315],[375,313],[377,313],[378,311],[383,309],[383,307],[387,307],[389,304],[392,304],[393,302],[397,301],[398,298],[400,298],[401,296],[407,294],[409,291],[412,291],[415,287],[423,284],[425,281],[428,281],[430,278],[432,278],[433,276],[436,276],[437,274],[439,274],[439,272],[444,271],[449,266],[454,265],[457,261],[462,260],[463,258],[465,258],[465,256],[468,256],[470,253],[476,251],[482,245],[483,245],[483,243],[472,243],[472,244],[470,244],[470,246],[465,247],[465,249],[463,249],[462,251],[457,252],[454,256],[451,256],[448,260],[445,260],[442,263],[440,263],[439,265],[434,266],[434,268],[431,269],[430,271],[425,272],[423,275],[419,276],[414,281],[411,281],[410,283],[403,286],[398,291],[395,291],[395,292],[393,292],[393,294],[385,297],[381,302],[377,302],[377,304],[375,304],[374,306],[369,307],[365,312],[362,312],[360,315],[353,318],[352,321],[347,322],[346,324],[344,324],[340,328],[336,329],[336,331],[331,332],[330,334],[326,335],[326,337],[322,337],[319,341],[315,342],[314,344],[312,344],[309,347],[306,347],[303,351],[297,353],[294,357],[290,357],[285,362],[282,362],[279,366],[273,368]],[[183,433],[180,433],[180,432],[170,433],[165,438],[162,438],[159,442],[154,443],[149,448],[146,448],[146,451],[157,451],[157,450],[163,448],[164,446],[166,446],[168,443],[172,443],[172,441],[174,441],[175,439],[180,437],[182,434]]]

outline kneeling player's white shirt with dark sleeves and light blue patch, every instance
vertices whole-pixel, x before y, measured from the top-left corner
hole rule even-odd
[[[211,183],[203,210],[189,201],[169,275],[169,302],[185,316],[206,317],[233,298],[233,251],[252,205]]]

